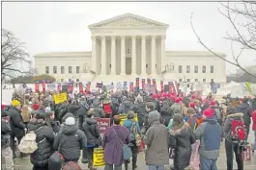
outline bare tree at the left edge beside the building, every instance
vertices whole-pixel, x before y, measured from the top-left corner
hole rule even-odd
[[[16,74],[31,74],[33,69],[32,58],[24,50],[24,42],[20,42],[12,32],[2,29],[1,44],[1,80],[5,76],[14,77]],[[22,68],[22,64],[26,63],[27,69]]]

